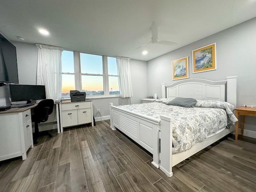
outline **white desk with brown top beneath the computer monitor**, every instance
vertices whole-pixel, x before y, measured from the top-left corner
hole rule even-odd
[[[34,146],[30,109],[35,106],[0,112],[0,161],[18,156],[22,160],[27,158],[27,150]]]

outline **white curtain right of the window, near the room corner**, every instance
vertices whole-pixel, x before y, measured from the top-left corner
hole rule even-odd
[[[118,83],[121,98],[132,97],[132,80],[130,73],[130,58],[116,57]]]

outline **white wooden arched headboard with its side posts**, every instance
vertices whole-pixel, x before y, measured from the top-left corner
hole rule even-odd
[[[236,106],[236,76],[224,81],[186,79],[162,84],[162,98],[190,97],[198,100],[222,100]],[[226,88],[227,85],[227,88]]]

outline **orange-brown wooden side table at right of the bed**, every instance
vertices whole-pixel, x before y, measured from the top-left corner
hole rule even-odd
[[[239,115],[241,115],[241,135],[244,135],[244,116],[256,116],[256,108],[251,107],[238,107],[236,110],[236,118],[238,118]],[[236,122],[235,126],[235,140],[238,139],[238,121]]]

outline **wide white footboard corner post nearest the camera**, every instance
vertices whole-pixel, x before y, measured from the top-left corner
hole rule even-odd
[[[172,118],[161,116],[160,170],[172,176]]]

